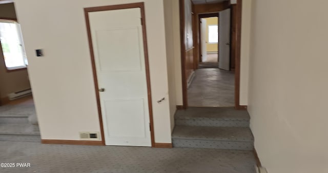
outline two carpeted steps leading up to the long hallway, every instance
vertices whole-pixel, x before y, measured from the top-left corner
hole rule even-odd
[[[253,150],[250,116],[232,107],[189,107],[177,110],[174,147]]]

